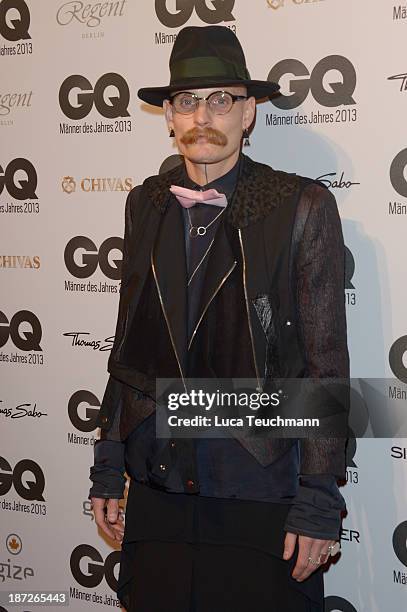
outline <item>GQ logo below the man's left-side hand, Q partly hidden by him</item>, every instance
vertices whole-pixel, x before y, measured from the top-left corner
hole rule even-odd
[[[80,567],[80,563],[85,557],[94,561],[94,563],[88,562],[86,574],[83,573]],[[80,585],[88,589],[94,589],[102,582],[103,577],[105,577],[112,591],[117,590],[117,580],[114,575],[114,568],[120,563],[119,550],[114,550],[109,553],[106,560],[103,561],[102,555],[96,548],[93,548],[93,546],[89,544],[80,544],[72,551],[69,563],[72,576]]]

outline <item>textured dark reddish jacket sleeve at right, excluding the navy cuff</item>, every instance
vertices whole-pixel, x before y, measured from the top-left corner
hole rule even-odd
[[[312,201],[296,259],[296,301],[307,376],[340,379],[349,407],[349,353],[345,307],[345,245],[335,197],[319,184],[306,187]],[[323,407],[322,407],[323,408]],[[301,474],[344,478],[346,439],[300,441]]]

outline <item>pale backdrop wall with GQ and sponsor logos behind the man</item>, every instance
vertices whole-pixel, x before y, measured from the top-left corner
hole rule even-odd
[[[406,3],[2,0],[0,591],[67,590],[78,612],[118,606],[119,553],[87,501],[94,421],[126,192],[177,153],[162,112],[136,91],[168,82],[183,25],[208,23],[237,33],[252,77],[277,75],[284,107],[258,106],[245,153],[332,189],[352,375],[392,378],[386,393],[406,405]],[[326,611],[399,612],[406,440],[357,440],[348,459]]]

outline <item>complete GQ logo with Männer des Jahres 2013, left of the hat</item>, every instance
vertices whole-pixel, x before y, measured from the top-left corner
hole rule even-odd
[[[117,72],[107,72],[96,81],[81,74],[68,76],[59,89],[59,105],[63,114],[74,124],[60,123],[60,134],[103,134],[132,131],[130,113],[130,89],[124,77]],[[96,111],[109,121],[83,121]]]

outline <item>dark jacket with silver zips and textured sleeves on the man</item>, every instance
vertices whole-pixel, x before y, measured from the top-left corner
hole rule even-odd
[[[320,183],[242,158],[189,347],[192,374],[257,377],[263,388],[275,377],[346,379],[344,245],[335,199]],[[97,423],[102,440],[126,440],[154,413],[156,377],[187,373],[183,235],[168,197],[169,186],[181,181],[180,168],[150,177],[127,200],[119,315]],[[240,295],[236,280],[242,274]],[[231,303],[233,316],[225,308]],[[204,340],[214,321],[217,334],[208,354]],[[252,349],[240,361],[228,353],[236,333]],[[298,444],[300,474],[345,475],[344,439],[239,441],[264,467]],[[191,451],[188,444],[177,448],[184,455]],[[177,474],[178,459],[168,442],[161,444],[152,471],[167,490],[179,490],[171,484],[177,482],[196,491],[199,483],[184,477],[193,463]],[[162,474],[163,464],[173,469]]]

